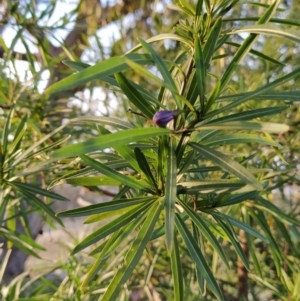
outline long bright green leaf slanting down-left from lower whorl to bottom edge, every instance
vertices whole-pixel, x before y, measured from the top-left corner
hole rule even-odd
[[[161,212],[161,204],[156,202],[148,211],[148,216],[142,224],[136,239],[134,240],[131,248],[129,249],[122,267],[118,270],[117,274],[112,279],[107,290],[105,291],[101,301],[115,301],[120,288],[125,284],[128,278],[138,264],[143,251],[150,241],[154,226]]]

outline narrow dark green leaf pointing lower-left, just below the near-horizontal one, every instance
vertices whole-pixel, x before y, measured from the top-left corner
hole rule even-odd
[[[88,246],[95,244],[99,240],[105,238],[106,236],[114,233],[121,227],[127,225],[134,218],[138,217],[140,214],[145,212],[145,210],[149,210],[149,207],[153,204],[153,202],[148,202],[146,204],[140,204],[128,212],[124,213],[122,216],[114,219],[110,223],[102,226],[100,229],[96,230],[92,234],[88,235],[83,241],[81,241],[72,251],[72,254],[76,254],[79,251],[87,248]]]

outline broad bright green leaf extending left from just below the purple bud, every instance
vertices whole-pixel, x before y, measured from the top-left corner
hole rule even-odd
[[[136,128],[125,131],[118,131],[116,133],[103,135],[97,138],[91,138],[85,142],[69,145],[54,151],[52,156],[54,158],[72,157],[90,152],[103,150],[110,147],[123,146],[130,142],[137,140],[152,138],[170,134],[171,131],[163,128]]]

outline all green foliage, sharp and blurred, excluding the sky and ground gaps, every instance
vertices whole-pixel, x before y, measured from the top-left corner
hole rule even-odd
[[[80,46],[61,43],[59,56],[51,56],[48,28],[39,22],[55,4],[38,17],[32,2],[8,5],[19,27],[10,49],[2,40],[1,276],[12,246],[32,256],[42,249],[30,225],[33,212],[59,224],[85,216],[97,227],[57,267],[65,279],[52,281],[48,271],[31,280],[20,275],[2,287],[3,297],[299,300],[300,69],[294,55],[300,24],[284,15],[278,0],[180,0],[169,14],[151,14],[152,1],[144,7],[125,2],[111,19],[105,7],[107,19],[135,11],[136,24],[147,31],[138,32],[136,43],[139,26],[130,28],[93,65],[80,61]],[[75,13],[77,25],[86,18],[88,36],[99,16],[87,8],[82,1]],[[43,31],[33,33],[28,15]],[[40,71],[25,29],[43,54]],[[78,43],[87,47],[87,36]],[[33,76],[27,82],[13,72],[19,40]],[[52,75],[41,93],[45,70]],[[68,107],[78,91],[84,97],[99,87],[106,114]],[[116,99],[118,107],[111,107]],[[99,193],[103,185],[117,186],[118,192],[109,202],[56,214],[51,202],[66,199],[51,189],[61,183]]]

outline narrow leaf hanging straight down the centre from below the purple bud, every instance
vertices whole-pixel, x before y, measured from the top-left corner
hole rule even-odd
[[[167,175],[165,185],[165,228],[168,252],[171,253],[174,242],[175,227],[175,202],[177,195],[176,187],[177,164],[175,156],[175,138],[170,137],[167,155]]]

